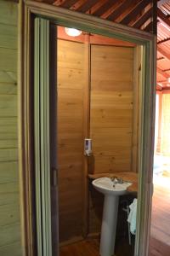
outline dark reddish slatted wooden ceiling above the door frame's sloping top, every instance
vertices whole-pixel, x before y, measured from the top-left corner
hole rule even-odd
[[[156,0],[37,0],[156,33]],[[154,21],[155,20],[155,21]]]

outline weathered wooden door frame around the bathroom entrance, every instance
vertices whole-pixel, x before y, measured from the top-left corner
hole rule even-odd
[[[148,255],[150,240],[152,170],[156,98],[156,36],[92,15],[83,15],[46,3],[20,0],[19,16],[19,154],[22,237],[25,255],[36,253],[34,154],[32,116],[32,21],[34,17],[53,20],[60,26],[73,26],[83,31],[127,40],[143,46],[142,90],[140,93],[139,129],[139,201],[135,256]],[[140,220],[140,221],[139,221]],[[48,256],[48,255],[47,255]]]

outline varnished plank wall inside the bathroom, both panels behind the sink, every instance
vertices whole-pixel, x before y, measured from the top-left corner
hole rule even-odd
[[[92,172],[130,172],[133,144],[134,48],[91,45],[88,81],[86,44],[58,40],[59,240],[83,236],[83,139],[91,82]],[[89,184],[88,234],[99,232],[103,196]],[[85,209],[86,210],[86,209]]]

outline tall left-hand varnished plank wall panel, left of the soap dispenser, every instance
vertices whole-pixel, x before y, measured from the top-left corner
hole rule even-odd
[[[59,241],[82,236],[84,44],[58,40]]]

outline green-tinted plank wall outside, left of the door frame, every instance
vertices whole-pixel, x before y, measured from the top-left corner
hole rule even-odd
[[[0,1],[0,255],[20,256],[17,3]]]

